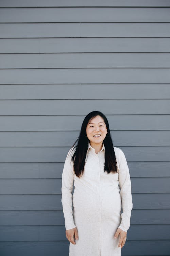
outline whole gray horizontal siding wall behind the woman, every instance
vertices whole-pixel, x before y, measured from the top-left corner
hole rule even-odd
[[[68,255],[62,169],[93,110],[130,169],[122,256],[170,255],[170,1],[0,7],[0,255]]]

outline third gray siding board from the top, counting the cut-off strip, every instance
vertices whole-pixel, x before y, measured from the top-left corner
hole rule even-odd
[[[2,23],[0,38],[170,37],[169,23]]]

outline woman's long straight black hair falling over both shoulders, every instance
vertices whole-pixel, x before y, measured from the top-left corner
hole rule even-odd
[[[88,142],[89,139],[86,134],[86,127],[89,121],[91,121],[96,116],[101,116],[106,124],[107,127],[107,134],[106,137],[103,140],[104,147],[105,147],[105,165],[104,165],[104,171],[107,171],[107,173],[118,172],[117,162],[116,162],[116,156],[115,151],[113,147],[113,142],[111,138],[111,132],[109,129],[109,124],[106,116],[100,112],[100,111],[92,111],[83,120],[80,135],[73,144],[72,148],[74,148],[74,154],[71,158],[71,161],[73,161],[74,165],[74,172],[77,177],[80,177],[83,175],[84,172],[84,165],[86,160],[86,154],[88,150]],[[78,143],[77,143],[78,142]],[[77,143],[77,145],[74,147],[74,145]]]

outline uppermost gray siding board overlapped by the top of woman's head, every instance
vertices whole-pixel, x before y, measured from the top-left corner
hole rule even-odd
[[[0,115],[106,115],[170,114],[169,99],[126,100],[1,100]],[[79,125],[80,129],[80,125]]]

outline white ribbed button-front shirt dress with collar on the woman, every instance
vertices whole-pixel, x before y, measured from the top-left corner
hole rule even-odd
[[[75,147],[74,147],[75,149]],[[114,147],[118,173],[104,172],[104,143],[95,149],[88,142],[83,177],[73,171],[67,154],[62,173],[62,205],[66,230],[77,227],[78,240],[70,242],[69,256],[120,256],[117,228],[128,231],[132,210],[131,181],[123,151]],[[74,183],[74,193],[72,195]],[[122,213],[121,213],[122,208]]]

